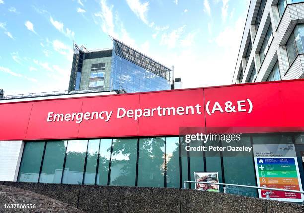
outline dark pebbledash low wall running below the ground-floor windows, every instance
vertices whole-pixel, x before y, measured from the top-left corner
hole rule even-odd
[[[0,182],[85,212],[303,213],[304,205],[190,189]]]

